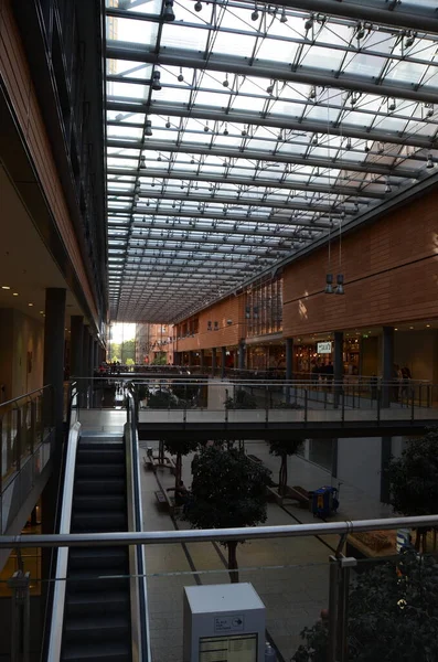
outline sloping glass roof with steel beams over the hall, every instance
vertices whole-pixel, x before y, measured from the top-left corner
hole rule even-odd
[[[113,320],[183,319],[437,179],[435,0],[421,31],[302,4],[106,0]]]

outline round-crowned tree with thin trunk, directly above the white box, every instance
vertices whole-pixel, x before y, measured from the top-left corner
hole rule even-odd
[[[237,449],[203,448],[194,465],[192,499],[185,519],[194,528],[235,528],[266,522],[269,472]],[[224,543],[228,570],[237,570],[238,542]],[[233,583],[238,573],[231,572]]]

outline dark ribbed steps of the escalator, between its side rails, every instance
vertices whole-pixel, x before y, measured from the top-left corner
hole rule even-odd
[[[128,531],[122,437],[82,437],[72,533]],[[128,547],[72,547],[61,660],[131,662]]]

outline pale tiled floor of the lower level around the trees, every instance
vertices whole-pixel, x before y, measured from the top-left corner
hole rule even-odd
[[[276,476],[279,460],[269,455],[268,446],[261,441],[246,442],[248,453],[259,457]],[[141,449],[141,455],[145,455]],[[191,458],[184,458],[183,478],[191,483]],[[305,488],[329,482],[329,474],[301,458],[292,458],[289,484]],[[188,524],[171,517],[158,509],[153,492],[157,490],[154,474],[143,470],[142,501],[145,530],[184,528]],[[160,481],[172,487],[174,478],[169,470],[160,471]],[[389,509],[370,502],[355,488],[343,484],[341,511],[336,520],[352,520],[389,515]],[[268,504],[269,525],[297,523],[289,513],[301,522],[313,523],[312,514],[296,505],[282,510]],[[324,536],[327,545],[336,546],[335,536]],[[239,545],[237,551],[241,580],[252,581],[267,608],[267,629],[282,659],[290,656],[300,643],[299,633],[305,626],[318,619],[321,608],[328,605],[328,558],[332,553],[324,542],[316,537],[255,541]],[[224,547],[211,543],[181,545],[154,545],[145,548],[148,577],[149,613],[153,662],[182,661],[182,590],[195,581],[202,584],[228,583],[223,563]],[[191,574],[191,566],[199,570]],[[273,567],[275,566],[275,567]],[[174,573],[169,575],[169,573]],[[153,576],[151,576],[153,575]],[[280,658],[281,662],[281,658]]]

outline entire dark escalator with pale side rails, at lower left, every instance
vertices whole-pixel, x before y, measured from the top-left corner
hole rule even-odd
[[[86,433],[72,409],[58,524],[67,546],[53,572],[44,662],[150,661],[142,547],[98,538],[142,531],[136,410],[130,393],[126,399],[122,435]],[[68,547],[73,533],[97,537]]]

